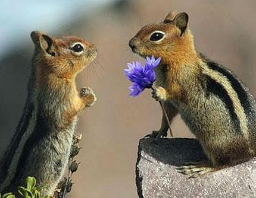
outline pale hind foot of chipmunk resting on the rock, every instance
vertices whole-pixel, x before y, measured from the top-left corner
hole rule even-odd
[[[176,168],[178,173],[188,175],[189,178],[196,178],[206,173],[215,171],[216,168],[212,167],[208,161],[195,161],[195,162],[185,162],[179,168]]]

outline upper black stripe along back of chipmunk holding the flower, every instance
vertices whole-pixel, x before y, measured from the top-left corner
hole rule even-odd
[[[249,102],[248,95],[247,95],[245,89],[243,88],[241,82],[239,82],[238,79],[236,78],[236,76],[234,76],[231,72],[227,71],[227,69],[218,65],[218,63],[213,62],[211,60],[206,60],[206,63],[209,66],[209,68],[213,69],[214,71],[219,72],[220,74],[222,74],[229,80],[233,90],[235,90],[236,94],[238,94],[238,98],[243,107],[243,110],[245,111],[245,115],[249,116],[249,114],[251,113],[252,107]]]

